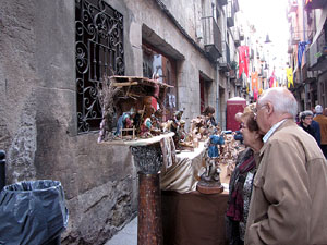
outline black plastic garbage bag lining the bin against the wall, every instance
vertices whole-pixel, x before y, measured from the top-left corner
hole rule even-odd
[[[69,220],[59,181],[7,185],[0,193],[0,245],[44,245],[59,236]]]

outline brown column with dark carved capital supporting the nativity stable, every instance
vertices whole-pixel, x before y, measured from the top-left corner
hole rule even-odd
[[[137,245],[162,245],[159,144],[131,147],[138,173]]]

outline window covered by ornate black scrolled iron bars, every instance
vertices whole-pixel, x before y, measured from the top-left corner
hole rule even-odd
[[[75,0],[78,134],[99,130],[97,96],[105,76],[124,75],[123,15],[104,0]]]

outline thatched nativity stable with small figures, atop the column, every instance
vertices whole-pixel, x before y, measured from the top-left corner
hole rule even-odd
[[[98,88],[102,110],[98,143],[149,138],[164,133],[164,102],[169,87],[146,77],[106,78]]]

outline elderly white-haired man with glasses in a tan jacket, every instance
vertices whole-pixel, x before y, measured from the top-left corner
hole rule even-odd
[[[294,118],[286,88],[264,91],[256,120],[265,135],[253,183],[245,244],[327,244],[327,163]]]

